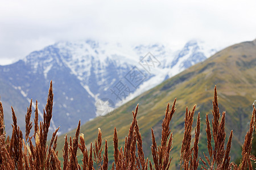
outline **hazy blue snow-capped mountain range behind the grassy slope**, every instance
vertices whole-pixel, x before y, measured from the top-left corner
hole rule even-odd
[[[215,52],[217,49],[199,41],[189,41],[178,51],[162,44],[58,42],[12,65],[0,66],[6,125],[11,122],[11,105],[22,129],[31,98],[34,103],[38,100],[43,112],[50,80],[54,93],[51,127],[61,126],[60,132],[66,132],[75,128],[79,120],[84,123],[113,111]],[[6,129],[10,133],[11,127]]]

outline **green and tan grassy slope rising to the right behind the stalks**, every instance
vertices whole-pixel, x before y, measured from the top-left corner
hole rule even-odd
[[[202,151],[207,152],[204,130],[205,114],[211,112],[213,88],[216,84],[220,112],[226,111],[227,113],[226,135],[229,135],[231,129],[234,130],[232,159],[235,159],[241,154],[240,149],[237,148],[240,148],[243,142],[251,114],[251,104],[256,99],[255,45],[256,41],[230,46],[214,54],[207,61],[192,66],[159,86],[144,92],[144,94],[116,109],[111,116],[97,117],[87,122],[81,126],[81,133],[85,134],[86,143],[94,142],[100,127],[102,139],[108,140],[109,160],[112,160],[114,127],[117,127],[119,146],[122,146],[132,120],[131,111],[139,103],[138,124],[142,134],[143,149],[146,156],[151,156],[150,129],[153,127],[156,139],[159,140],[166,105],[167,103],[172,104],[177,97],[177,110],[171,121],[171,129],[174,133],[174,149],[171,152],[172,167],[177,165],[180,155],[185,107],[188,106],[189,109],[192,109],[194,104],[197,104],[196,111],[200,111],[202,119],[199,141],[199,154],[202,156]],[[75,130],[72,130],[68,133],[68,137],[74,134]],[[62,153],[64,136],[60,136],[58,141],[57,150]],[[79,156],[79,160],[81,160],[81,156]]]

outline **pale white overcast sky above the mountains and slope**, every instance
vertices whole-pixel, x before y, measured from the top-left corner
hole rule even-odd
[[[61,40],[222,47],[256,38],[256,1],[0,0],[0,65]]]

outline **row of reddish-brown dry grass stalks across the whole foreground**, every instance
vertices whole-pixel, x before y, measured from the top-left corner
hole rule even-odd
[[[230,163],[230,148],[232,143],[233,131],[230,131],[228,143],[225,147],[225,112],[221,115],[218,108],[217,90],[214,88],[214,100],[212,109],[212,130],[208,115],[206,116],[205,129],[207,135],[207,147],[209,156],[204,154],[205,158],[199,158],[199,136],[200,136],[200,113],[197,114],[197,122],[195,127],[195,137],[193,145],[191,145],[193,130],[193,116],[195,114],[196,105],[192,111],[185,112],[184,118],[184,138],[180,151],[180,169],[253,169],[251,161],[256,161],[254,155],[251,155],[253,131],[255,129],[255,113],[256,109],[253,104],[253,112],[250,120],[250,127],[246,133],[245,141],[242,147],[242,160],[239,165]],[[138,105],[133,112],[133,121],[131,122],[129,133],[125,137],[123,147],[118,147],[117,129],[114,128],[113,145],[114,145],[114,162],[109,163],[108,160],[108,142],[102,146],[101,129],[98,129],[98,138],[94,147],[90,143],[90,147],[85,145],[84,134],[80,133],[80,121],[77,126],[76,134],[73,139],[65,136],[65,144],[63,148],[63,169],[169,169],[171,164],[172,150],[172,133],[170,130],[170,122],[175,113],[175,104],[167,105],[165,117],[162,122],[162,138],[160,145],[156,143],[154,130],[151,129],[152,135],[152,162],[144,157],[143,143],[139,126],[137,122]],[[52,134],[49,146],[47,145],[48,129],[52,118],[53,92],[52,82],[49,87],[46,108],[44,109],[44,118],[42,122],[38,122],[38,104],[36,101],[35,118],[34,118],[34,134],[30,136],[32,122],[30,121],[32,113],[32,100],[30,107],[27,108],[26,114],[26,134],[23,138],[22,131],[17,125],[14,109],[13,113],[13,133],[11,137],[6,137],[5,123],[3,119],[3,107],[0,102],[0,168],[1,169],[61,169],[61,162],[58,159],[57,131]],[[213,140],[213,141],[212,141]],[[33,142],[32,142],[33,141]],[[212,142],[214,146],[212,146]],[[78,163],[77,150],[82,152],[82,164]],[[201,165],[199,165],[201,160]]]

